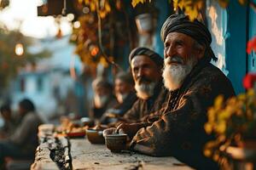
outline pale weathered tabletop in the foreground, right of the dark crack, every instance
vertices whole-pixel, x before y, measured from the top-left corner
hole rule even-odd
[[[70,153],[73,169],[191,169],[174,157],[153,157],[124,151],[112,153],[104,144],[90,144],[87,139],[71,139]]]

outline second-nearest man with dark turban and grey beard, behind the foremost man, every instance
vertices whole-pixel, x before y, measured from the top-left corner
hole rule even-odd
[[[163,58],[148,48],[135,48],[129,55],[131,73],[135,82],[137,101],[125,113],[125,122],[140,122],[166,101],[167,90],[162,82]]]

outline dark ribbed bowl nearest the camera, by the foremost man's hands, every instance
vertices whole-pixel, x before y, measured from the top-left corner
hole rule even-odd
[[[112,152],[120,152],[121,150],[125,150],[127,142],[127,134],[107,134],[105,135],[105,144],[108,150]]]

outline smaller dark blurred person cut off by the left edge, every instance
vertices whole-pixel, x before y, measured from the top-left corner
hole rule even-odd
[[[0,139],[4,139],[15,132],[15,127],[17,124],[12,116],[12,111],[8,104],[1,106],[0,113],[3,118],[3,127],[0,127]]]

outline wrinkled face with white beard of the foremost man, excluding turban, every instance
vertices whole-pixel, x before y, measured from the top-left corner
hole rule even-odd
[[[180,88],[184,78],[203,56],[202,49],[195,47],[195,40],[183,33],[171,32],[165,41],[165,68],[163,78],[166,88]]]

